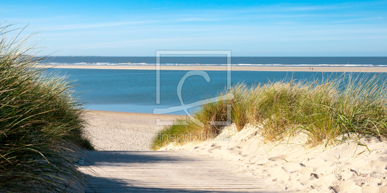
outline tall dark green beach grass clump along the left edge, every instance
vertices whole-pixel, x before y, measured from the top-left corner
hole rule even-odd
[[[84,133],[72,82],[33,68],[36,42],[0,26],[0,192],[77,192]]]

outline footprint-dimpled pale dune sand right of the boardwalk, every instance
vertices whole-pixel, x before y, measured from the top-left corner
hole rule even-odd
[[[160,150],[180,149],[224,159],[238,166],[238,172],[262,178],[267,185],[283,191],[387,193],[385,141],[375,137],[369,141],[361,139],[370,152],[354,141],[327,148],[307,148],[301,145],[302,137],[264,144],[257,130],[247,126],[236,132],[231,125],[212,141],[182,147],[169,144]],[[231,135],[231,141],[222,141],[225,135]]]

